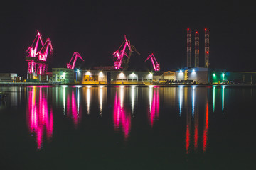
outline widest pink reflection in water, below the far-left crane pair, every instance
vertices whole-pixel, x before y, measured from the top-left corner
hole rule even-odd
[[[53,137],[53,111],[48,108],[46,89],[28,88],[27,125],[31,135],[35,135],[37,148],[43,146],[43,136],[50,142]]]

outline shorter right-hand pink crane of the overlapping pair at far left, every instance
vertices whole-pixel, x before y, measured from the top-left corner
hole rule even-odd
[[[46,60],[48,56],[48,50],[50,49],[50,52],[53,52],[53,46],[51,45],[50,38],[47,38],[45,44],[41,48],[41,50],[38,52],[38,74],[46,74],[47,72],[47,65]]]

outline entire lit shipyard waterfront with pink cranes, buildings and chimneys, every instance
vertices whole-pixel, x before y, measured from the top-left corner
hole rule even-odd
[[[226,72],[210,69],[209,61],[209,30],[205,28],[205,63],[199,67],[199,32],[195,32],[194,61],[192,64],[192,30],[187,28],[187,64],[185,68],[160,72],[160,64],[151,53],[145,60],[151,60],[153,72],[128,71],[129,60],[136,48],[124,35],[124,41],[113,53],[114,66],[93,67],[91,70],[75,69],[78,57],[85,61],[78,52],[74,52],[66,68],[53,68],[47,72],[48,51],[53,52],[50,38],[43,42],[41,33],[37,30],[36,38],[26,52],[28,62],[26,82],[52,82],[58,84],[255,84],[255,72]],[[129,52],[128,52],[129,50]],[[137,52],[138,55],[139,52]],[[194,67],[192,67],[194,65]],[[42,81],[42,77],[45,77]],[[1,82],[21,82],[23,77],[17,74],[0,74]]]

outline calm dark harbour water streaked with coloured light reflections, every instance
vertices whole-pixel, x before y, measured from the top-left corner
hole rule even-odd
[[[252,169],[256,88],[0,87],[1,169]]]

